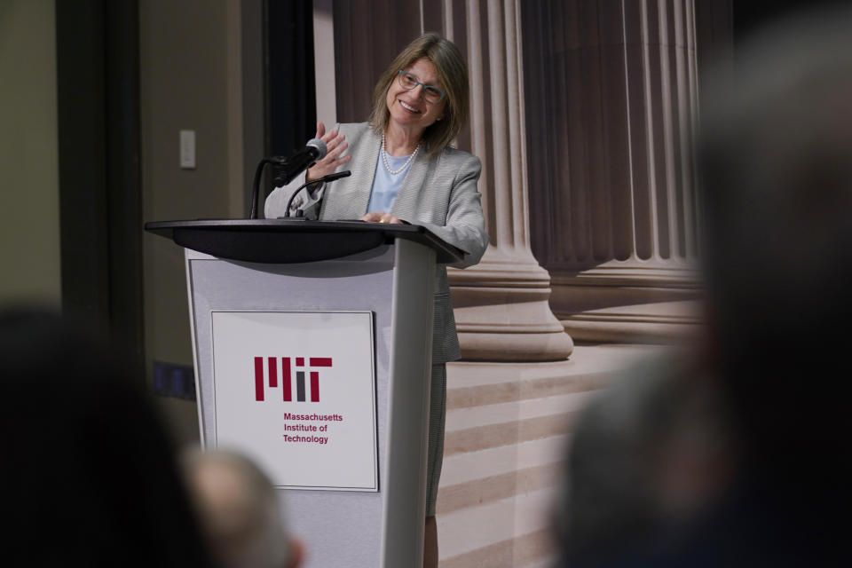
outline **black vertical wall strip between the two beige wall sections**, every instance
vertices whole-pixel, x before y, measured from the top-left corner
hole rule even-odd
[[[142,368],[138,4],[56,3],[62,304]]]

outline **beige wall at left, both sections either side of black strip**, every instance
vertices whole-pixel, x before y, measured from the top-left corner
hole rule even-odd
[[[239,0],[140,0],[139,17],[144,220],[240,217]],[[51,0],[0,2],[0,304],[61,302],[55,34]],[[179,168],[183,129],[195,170]],[[146,234],[144,263],[148,367],[192,364],[182,252]],[[162,406],[197,438],[193,403]]]

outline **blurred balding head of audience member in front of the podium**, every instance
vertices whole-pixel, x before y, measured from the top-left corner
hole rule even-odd
[[[185,476],[221,568],[296,568],[302,545],[288,536],[275,488],[254,461],[193,450]]]

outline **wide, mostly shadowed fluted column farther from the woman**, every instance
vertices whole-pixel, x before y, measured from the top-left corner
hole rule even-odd
[[[693,0],[526,3],[533,251],[589,341],[696,327]]]

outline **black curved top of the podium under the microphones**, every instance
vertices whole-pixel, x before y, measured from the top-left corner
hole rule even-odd
[[[397,239],[435,250],[438,263],[454,263],[464,253],[420,225],[303,219],[196,219],[145,224],[149,233],[181,247],[253,263],[287,264],[340,258]]]

